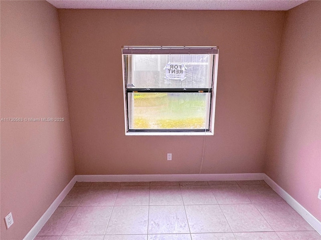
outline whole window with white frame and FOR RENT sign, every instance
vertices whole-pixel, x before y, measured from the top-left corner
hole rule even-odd
[[[218,47],[124,46],[126,134],[213,134]]]

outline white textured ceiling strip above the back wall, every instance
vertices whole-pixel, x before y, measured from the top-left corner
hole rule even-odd
[[[288,10],[307,0],[47,0],[57,8]]]

